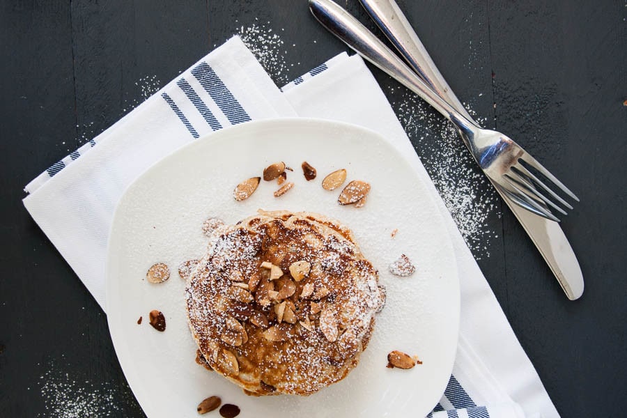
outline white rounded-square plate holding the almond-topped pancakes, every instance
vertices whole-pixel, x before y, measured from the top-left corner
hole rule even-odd
[[[234,199],[276,162],[291,188],[274,196],[277,180],[260,180]],[[346,182],[324,189],[340,169]],[[338,203],[352,180],[370,186],[361,207]],[[197,417],[208,396],[242,418],[427,415],[460,311],[435,199],[385,137],[315,119],[235,125],[148,169],[118,204],[107,259],[109,330],[146,415]],[[401,255],[415,266],[405,277],[389,269]],[[147,279],[155,264],[167,280]],[[388,367],[395,350],[419,364]]]

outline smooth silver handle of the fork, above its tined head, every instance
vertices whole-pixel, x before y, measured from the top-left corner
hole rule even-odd
[[[464,135],[466,145],[470,148],[468,138],[477,134],[479,127],[472,119],[468,119],[438,93],[420,79],[405,62],[379,40],[366,26],[331,0],[309,0],[309,9],[318,22],[331,33],[355,50],[359,55],[387,72],[392,78],[409,88],[411,91],[431,104],[444,117],[454,123]]]

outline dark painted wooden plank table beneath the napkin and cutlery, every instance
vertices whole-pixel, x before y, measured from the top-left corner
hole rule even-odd
[[[342,3],[368,22],[356,0]],[[562,416],[624,417],[625,1],[399,4],[484,125],[580,196],[562,223],[586,279],[576,302],[486,185],[473,203],[481,233],[467,240]],[[304,0],[8,0],[0,31],[0,416],[141,417],[106,316],[24,210],[22,187],[234,33],[256,42],[279,85],[346,48]],[[425,139],[433,126],[408,121],[408,92],[373,72],[450,194],[438,138]]]

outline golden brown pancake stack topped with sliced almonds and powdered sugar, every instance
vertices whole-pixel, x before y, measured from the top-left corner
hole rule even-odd
[[[254,395],[310,395],[346,377],[385,300],[349,229],[283,211],[216,233],[185,297],[198,361]]]

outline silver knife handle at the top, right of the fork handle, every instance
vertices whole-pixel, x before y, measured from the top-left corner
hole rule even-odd
[[[470,121],[474,119],[455,93],[442,77],[440,70],[435,66],[424,45],[418,38],[416,31],[405,17],[394,0],[359,0],[364,9],[379,26],[385,36],[392,42],[398,52],[405,57],[418,76],[428,84],[440,97],[447,100],[460,114]]]

